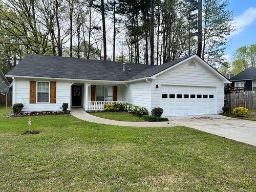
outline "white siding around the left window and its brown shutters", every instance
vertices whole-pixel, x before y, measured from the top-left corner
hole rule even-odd
[[[30,80],[50,81],[44,79],[16,78],[16,103],[24,103],[23,111],[61,111],[62,103],[69,103],[70,110],[70,81],[56,81],[56,103],[29,103]],[[13,103],[14,104],[14,103]],[[27,107],[27,108],[26,108]]]

